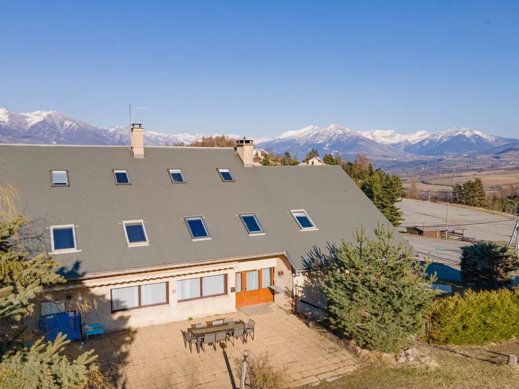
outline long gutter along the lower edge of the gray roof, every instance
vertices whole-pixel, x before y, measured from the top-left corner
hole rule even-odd
[[[114,271],[104,271],[104,272],[97,272],[97,273],[89,273],[89,274],[82,274],[82,275],[73,275],[73,276],[66,276],[65,280],[67,281],[76,281],[76,280],[89,280],[99,277],[107,277],[112,275],[126,275],[126,274],[134,274],[134,273],[141,273],[141,272],[149,272],[149,271],[155,271],[155,270],[170,270],[170,269],[178,269],[178,268],[184,268],[188,265],[190,266],[202,266],[202,265],[210,265],[212,263],[218,263],[218,262],[230,262],[230,261],[240,261],[240,260],[248,260],[248,259],[258,259],[258,258],[266,258],[266,257],[275,257],[285,255],[292,267],[295,269],[294,263],[288,256],[288,253],[285,251],[279,251],[274,253],[266,253],[266,254],[253,254],[253,255],[244,255],[240,257],[228,257],[228,258],[220,258],[220,259],[212,259],[209,261],[198,261],[198,262],[181,262],[181,263],[175,263],[174,265],[159,265],[159,266],[149,266],[146,268],[133,268],[133,269],[125,269],[125,270],[114,270]],[[295,269],[297,272],[297,269]],[[298,273],[296,273],[297,275]]]

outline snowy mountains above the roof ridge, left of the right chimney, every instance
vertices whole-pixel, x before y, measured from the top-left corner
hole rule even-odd
[[[213,134],[220,135],[220,134]],[[238,138],[243,135],[227,134]],[[144,131],[144,144],[164,146],[166,143],[190,144],[204,134],[164,134]],[[207,136],[207,135],[206,135]],[[41,143],[70,145],[129,145],[130,128],[100,128],[56,111],[18,114],[0,108],[0,143]]]

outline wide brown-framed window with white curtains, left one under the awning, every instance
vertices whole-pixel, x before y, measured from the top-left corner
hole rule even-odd
[[[111,290],[112,312],[169,303],[168,282]]]

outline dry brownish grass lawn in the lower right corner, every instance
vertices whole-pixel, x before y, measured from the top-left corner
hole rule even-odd
[[[393,359],[364,360],[364,367],[318,389],[508,389],[519,388],[519,366],[507,366],[508,354],[519,355],[519,340],[478,347],[418,346],[432,357],[398,365]]]

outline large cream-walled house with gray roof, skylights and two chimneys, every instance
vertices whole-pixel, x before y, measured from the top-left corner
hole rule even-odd
[[[312,256],[387,219],[340,166],[254,166],[236,148],[0,145],[30,219],[22,242],[62,262],[37,314],[88,290],[107,331],[274,302],[296,311]],[[399,236],[399,239],[401,237]]]

